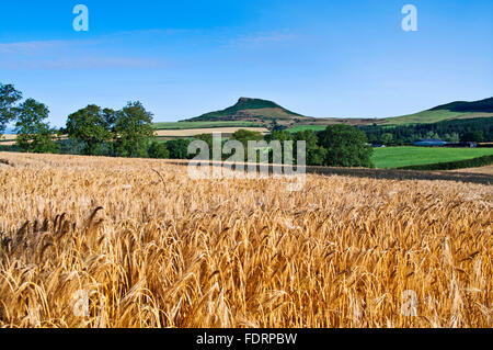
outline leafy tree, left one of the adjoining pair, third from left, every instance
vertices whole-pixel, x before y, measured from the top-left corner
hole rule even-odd
[[[71,139],[84,144],[84,155],[101,155],[102,145],[108,142],[112,134],[108,129],[106,115],[103,110],[94,104],[69,115],[66,131]]]

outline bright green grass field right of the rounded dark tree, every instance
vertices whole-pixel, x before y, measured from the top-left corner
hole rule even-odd
[[[383,147],[374,148],[371,160],[377,168],[399,168],[465,160],[493,155],[493,148]]]

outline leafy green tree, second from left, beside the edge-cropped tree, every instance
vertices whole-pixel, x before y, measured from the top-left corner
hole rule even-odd
[[[49,110],[43,103],[27,99],[16,109],[15,131],[18,133],[16,145],[26,153],[54,153],[54,131],[45,122]]]

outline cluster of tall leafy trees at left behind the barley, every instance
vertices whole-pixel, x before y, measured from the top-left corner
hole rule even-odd
[[[148,157],[156,147],[152,113],[138,101],[118,111],[90,104],[70,114],[66,127],[56,129],[47,122],[49,110],[44,103],[34,99],[21,103],[22,98],[12,84],[0,83],[0,135],[14,123],[21,151]]]

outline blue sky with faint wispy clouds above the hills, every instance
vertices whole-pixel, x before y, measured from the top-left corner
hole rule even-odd
[[[72,8],[90,11],[89,32]],[[417,8],[417,32],[401,9]],[[139,100],[154,121],[274,100],[311,116],[385,117],[493,95],[491,0],[2,1],[0,81],[48,105]]]

